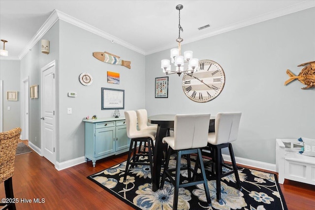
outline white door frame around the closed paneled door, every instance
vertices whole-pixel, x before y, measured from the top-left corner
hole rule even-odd
[[[44,87],[44,85],[43,85],[43,73],[44,73],[44,71],[45,70],[47,70],[47,69],[49,69],[49,68],[51,68],[51,67],[53,67],[53,66],[55,66],[55,78],[56,78],[56,72],[57,72],[57,65],[56,65],[56,60],[53,60],[53,61],[51,61],[50,63],[48,63],[48,64],[46,64],[45,66],[43,66],[43,67],[41,67],[40,68],[40,116],[41,117],[43,117],[44,116],[44,114],[43,114],[43,112],[44,112],[44,110],[43,110],[43,104],[44,104],[44,95],[43,95],[43,87]],[[57,120],[56,120],[56,118],[57,118],[57,110],[56,110],[56,103],[57,103],[57,97],[56,97],[56,90],[57,90],[57,86],[56,86],[56,79],[54,80],[55,81],[55,104],[54,104],[54,106],[55,106],[55,118],[54,118],[54,122],[55,122],[55,127],[54,127],[54,131],[53,131],[53,136],[54,136],[54,148],[55,148],[55,160],[54,160],[54,162],[52,163],[52,164],[54,164],[54,165],[56,165],[56,161],[57,161],[57,147],[56,147],[56,145],[57,145],[57,143],[56,143],[56,141],[57,141]],[[40,138],[40,150],[41,150],[41,156],[44,156],[44,138],[43,138],[43,136],[44,136],[44,131],[43,131],[43,129],[44,129],[44,120],[41,120],[41,122],[40,122],[40,136],[41,136],[41,138]]]

